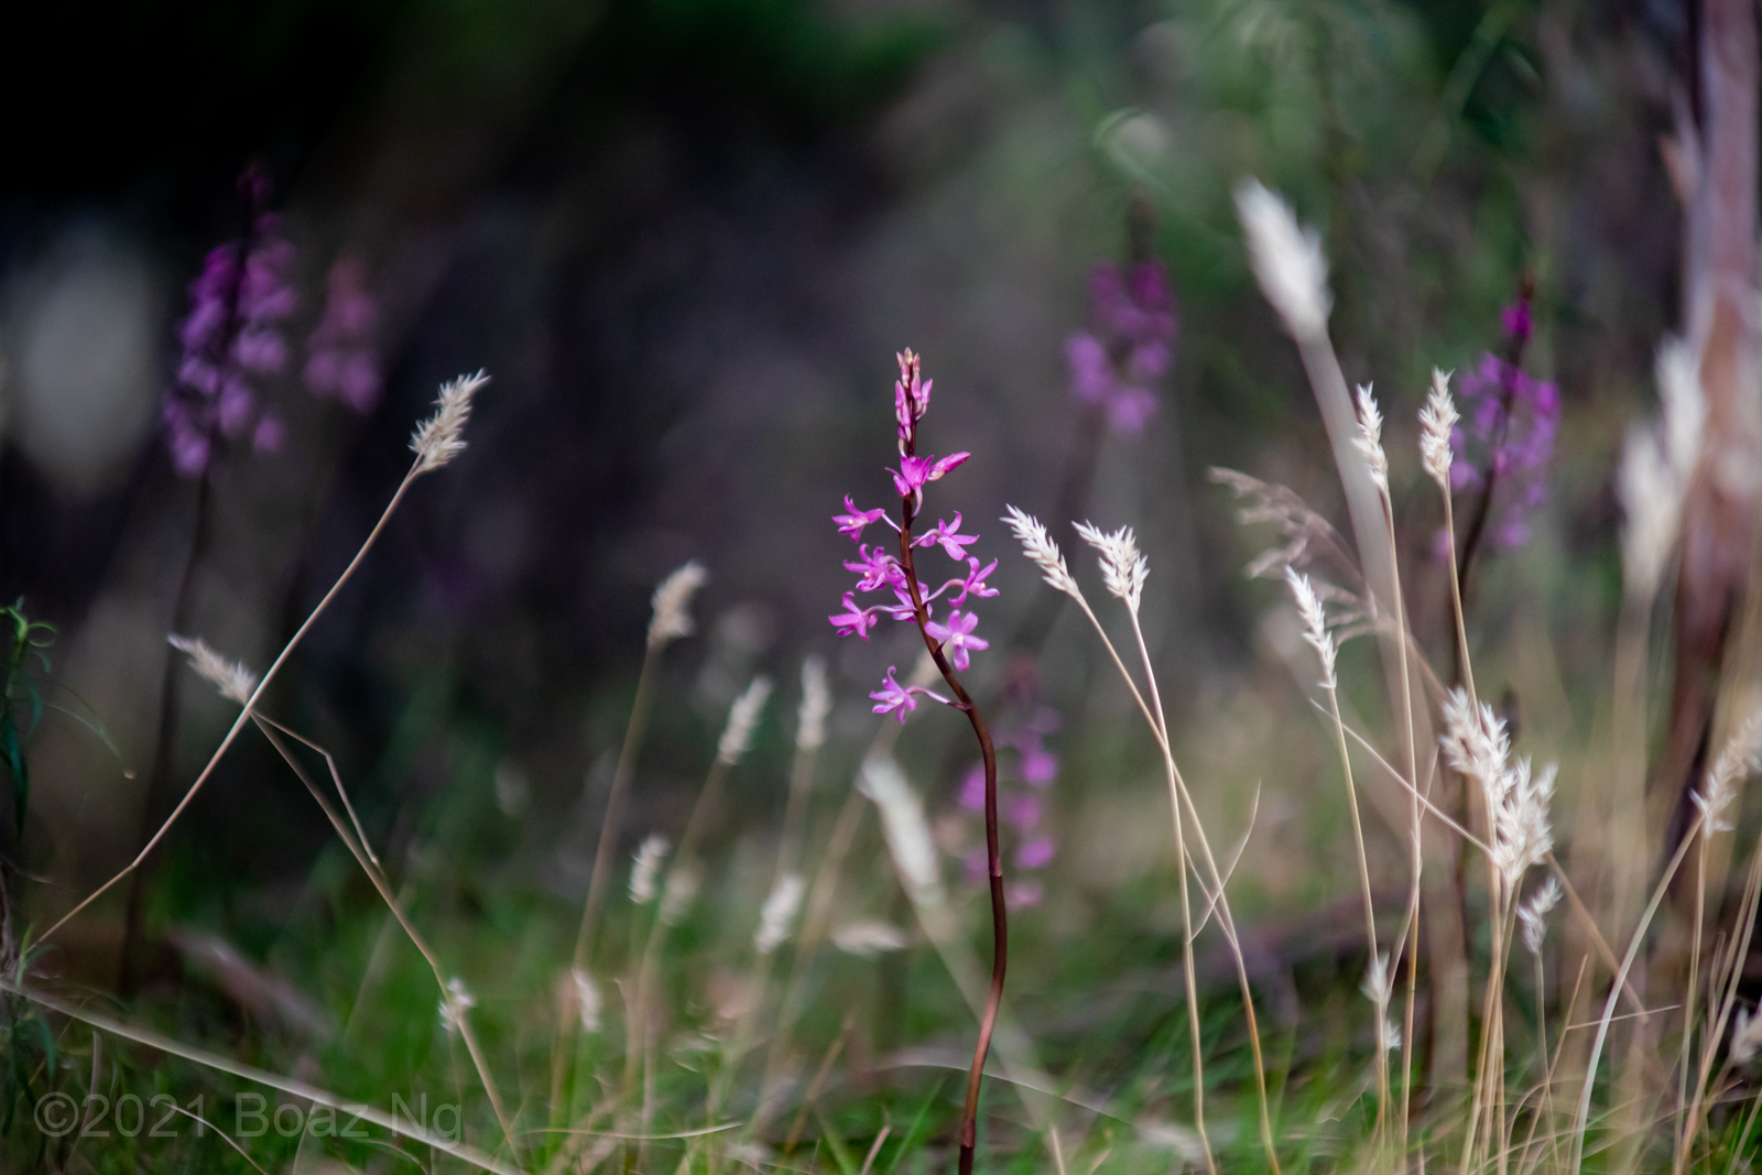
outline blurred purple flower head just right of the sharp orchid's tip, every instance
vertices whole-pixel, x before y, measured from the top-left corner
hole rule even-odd
[[[1091,329],[1064,344],[1071,396],[1103,405],[1112,428],[1140,432],[1156,412],[1149,384],[1173,363],[1175,312],[1163,266],[1145,261],[1124,273],[1096,266],[1089,275],[1089,319]]]

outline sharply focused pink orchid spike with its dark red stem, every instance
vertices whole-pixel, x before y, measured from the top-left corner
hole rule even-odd
[[[856,558],[846,560],[846,571],[856,574],[856,585],[844,594],[844,611],[826,617],[839,631],[839,636],[860,636],[869,639],[869,632],[881,622],[909,620],[916,624],[923,647],[936,661],[948,694],[943,696],[929,687],[899,682],[899,668],[888,666],[881,689],[869,694],[876,713],[897,715],[900,722],[918,708],[918,701],[929,698],[946,706],[953,706],[967,715],[973,735],[980,743],[981,756],[981,805],[985,809],[985,872],[990,881],[992,900],[992,981],[985,1001],[985,1015],[980,1020],[980,1036],[973,1050],[973,1066],[967,1073],[967,1097],[960,1115],[960,1175],[971,1175],[978,1138],[978,1101],[980,1082],[985,1073],[985,1055],[990,1052],[992,1025],[997,1020],[997,1008],[1003,1001],[1003,976],[1008,955],[1006,944],[1006,907],[1003,886],[1003,856],[997,840],[997,749],[992,745],[990,729],[980,715],[973,698],[962,687],[959,671],[973,664],[973,654],[990,647],[983,636],[976,636],[978,617],[973,613],[973,599],[987,599],[997,594],[985,580],[997,569],[997,560],[980,565],[978,557],[967,555],[967,548],[978,543],[976,534],[960,534],[960,511],[953,513],[953,521],[937,518],[936,525],[922,536],[913,536],[913,523],[923,509],[923,490],[932,481],[941,481],[953,472],[969,453],[951,453],[948,456],[918,454],[918,426],[925,412],[930,410],[932,382],[923,379],[918,356],[911,351],[899,354],[899,381],[893,384],[893,421],[899,430],[899,465],[886,472],[893,479],[899,493],[899,521],[888,516],[885,507],[862,509],[851,495],[844,499],[844,513],[833,514],[832,521],[839,534],[849,536],[856,544]],[[888,551],[886,543],[869,546],[863,532],[869,527],[885,525],[899,536],[899,553]],[[953,560],[955,573],[943,580],[934,592],[920,578],[918,551],[939,551]],[[964,567],[962,567],[964,565]],[[858,595],[885,592],[892,602],[862,604]],[[944,599],[946,597],[946,599]],[[936,617],[936,602],[944,599],[948,613]],[[1024,849],[1025,851],[1025,849]],[[1029,860],[1045,863],[1050,858],[1050,842],[1027,851]]]

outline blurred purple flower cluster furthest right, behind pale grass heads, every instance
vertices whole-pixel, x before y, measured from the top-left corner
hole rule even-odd
[[[1547,502],[1559,388],[1487,352],[1457,391],[1462,423],[1450,433],[1450,488],[1478,490],[1491,472],[1499,509],[1491,537],[1499,546],[1522,546],[1531,534],[1528,516]]]

